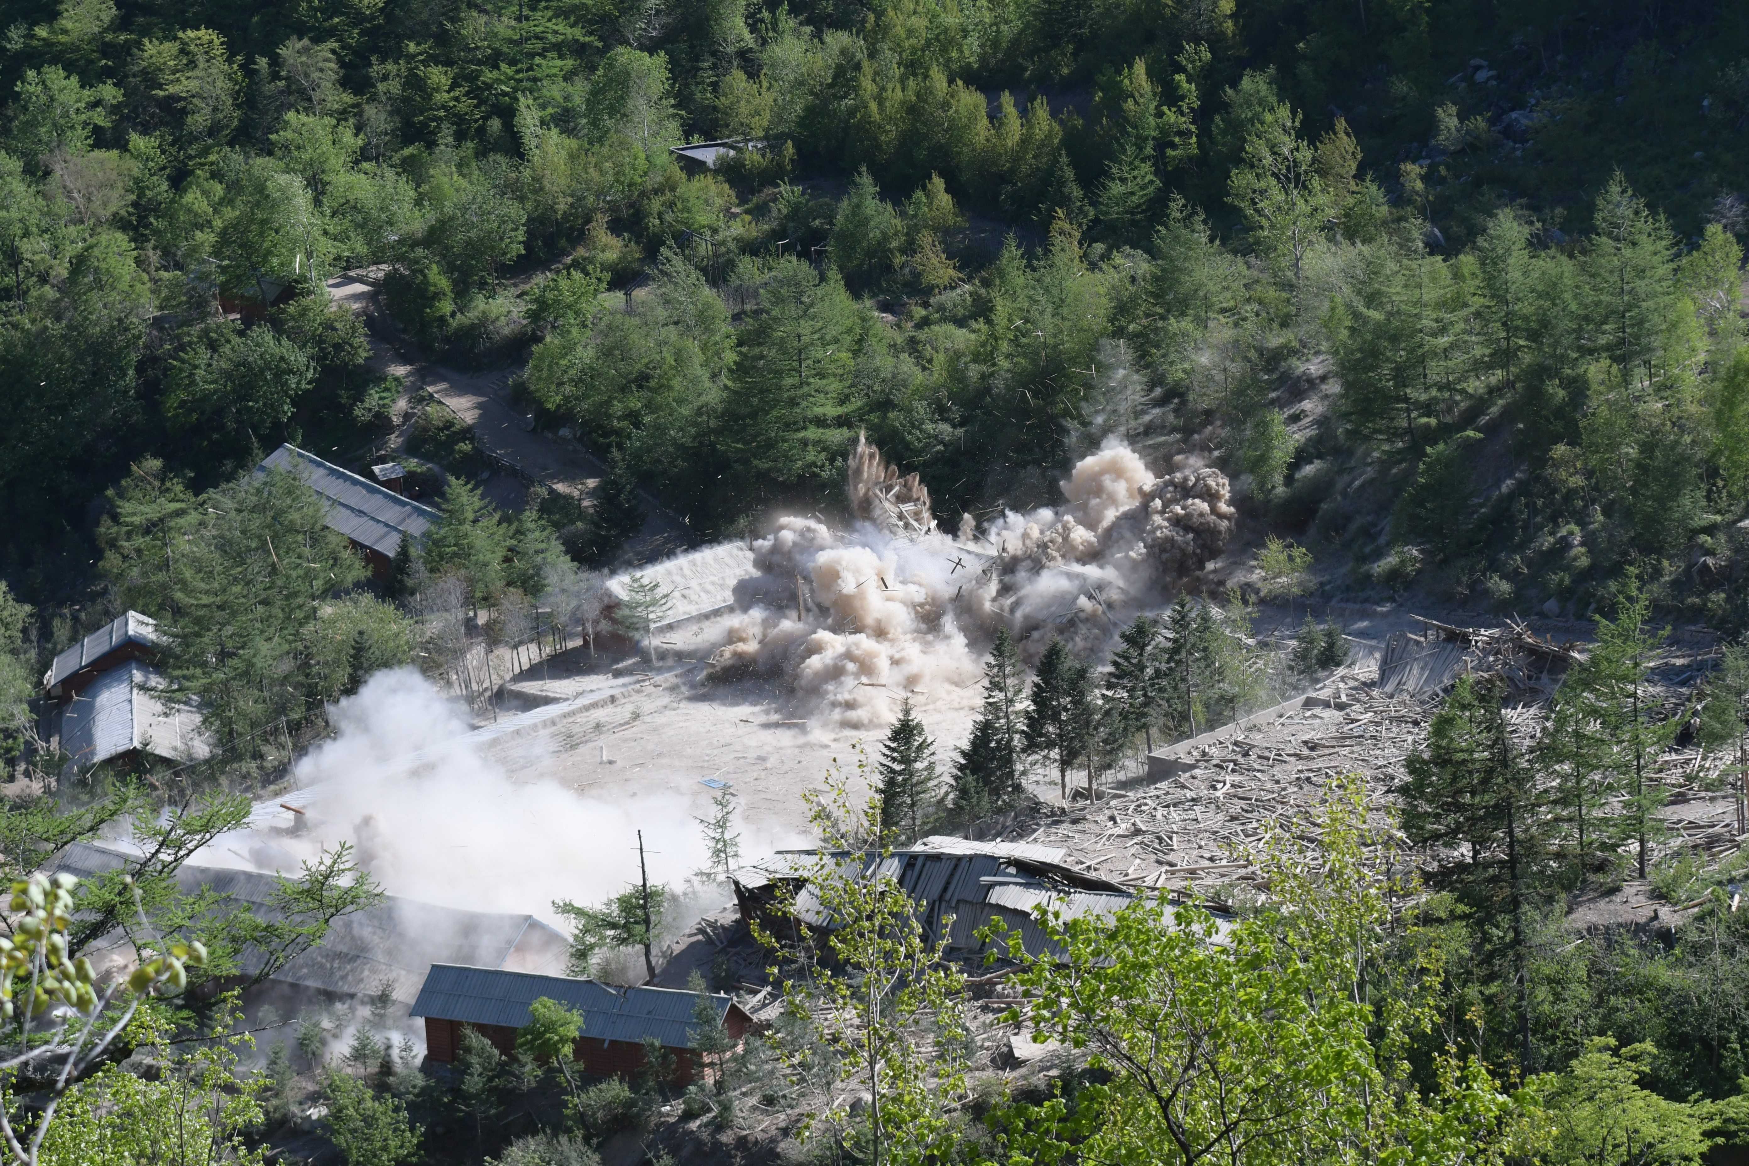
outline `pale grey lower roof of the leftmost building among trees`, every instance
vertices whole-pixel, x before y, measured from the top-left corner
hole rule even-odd
[[[98,673],[61,710],[61,748],[80,766],[96,766],[129,750],[171,760],[212,753],[199,713],[161,691],[163,673],[140,661]]]

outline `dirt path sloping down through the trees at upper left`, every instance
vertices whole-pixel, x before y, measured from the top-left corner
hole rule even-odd
[[[329,280],[327,288],[336,304],[357,313],[367,311],[376,295],[374,287],[353,276],[336,276]],[[525,428],[532,427],[532,420],[518,413],[509,400],[511,371],[460,372],[441,364],[413,362],[374,332],[369,343],[367,364],[373,371],[399,376],[409,392],[422,388],[430,392],[474,428],[474,439],[483,451],[519,474],[586,500],[607,472],[607,467],[575,441]],[[519,484],[493,482],[484,493],[504,509],[523,505]],[[686,524],[652,498],[645,498],[645,510],[644,530],[635,544],[637,558],[672,554],[691,542]]]

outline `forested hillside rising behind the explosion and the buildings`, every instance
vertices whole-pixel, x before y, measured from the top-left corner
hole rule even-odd
[[[381,437],[322,281],[385,264],[429,355],[530,358],[701,535],[819,502],[859,427],[948,517],[1119,434],[1242,474],[1338,591],[1583,614],[1644,559],[1742,622],[1735,5],[9,16],[0,572],[44,612],[138,458]],[[670,154],[722,136],[764,145]]]

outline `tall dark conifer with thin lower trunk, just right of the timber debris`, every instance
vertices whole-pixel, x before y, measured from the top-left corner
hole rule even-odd
[[[1513,748],[1501,682],[1460,677],[1427,727],[1427,746],[1406,760],[1403,832],[1436,851],[1436,885],[1469,906],[1506,914],[1522,1066],[1530,1068],[1527,911],[1548,864],[1548,806],[1534,771]],[[1438,853],[1457,851],[1455,860]]]

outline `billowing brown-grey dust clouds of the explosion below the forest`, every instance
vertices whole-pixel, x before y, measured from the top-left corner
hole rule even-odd
[[[1055,624],[1053,635],[1093,654],[1112,629],[1112,594],[1163,593],[1217,558],[1233,531],[1217,470],[1181,465],[1154,477],[1116,439],[1081,458],[1062,491],[1060,509],[1009,510],[981,531],[967,517],[958,540],[778,519],[754,542],[759,573],[735,587],[743,614],[726,628],[714,675],[780,675],[812,711],[880,727],[895,696],[976,684],[981,650],[967,631],[983,640],[999,622],[1018,636]]]

